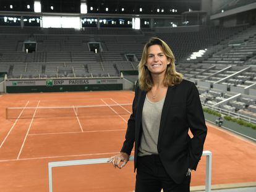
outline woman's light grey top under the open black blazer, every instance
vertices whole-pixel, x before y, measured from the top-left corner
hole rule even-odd
[[[164,99],[151,102],[147,96],[142,111],[142,138],[138,156],[158,154],[157,142]]]

